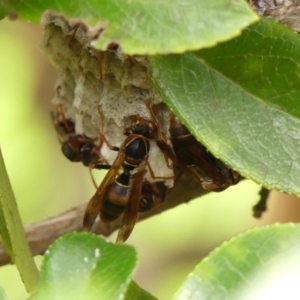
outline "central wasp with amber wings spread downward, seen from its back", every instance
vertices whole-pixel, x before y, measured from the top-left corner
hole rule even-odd
[[[106,137],[101,136],[111,150],[118,151],[118,155],[87,205],[83,219],[85,230],[91,229],[98,214],[102,222],[109,223],[124,213],[117,237],[117,242],[124,242],[134,228],[139,211],[151,209],[164,200],[167,187],[144,179],[146,167],[152,178],[167,179],[155,177],[148,163],[149,139],[154,138],[155,131],[152,122],[137,116],[131,127],[124,130],[127,138],[120,148],[112,147]],[[101,164],[94,167],[106,168]]]

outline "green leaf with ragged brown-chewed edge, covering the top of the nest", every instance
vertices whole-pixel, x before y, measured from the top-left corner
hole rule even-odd
[[[38,22],[51,9],[103,29],[96,47],[119,43],[128,54],[180,53],[240,34],[258,17],[243,0],[8,1],[19,18]],[[96,30],[96,31],[97,31]]]

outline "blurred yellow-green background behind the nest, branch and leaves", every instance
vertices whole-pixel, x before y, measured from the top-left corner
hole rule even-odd
[[[88,169],[60,152],[49,116],[56,75],[39,50],[41,36],[40,27],[0,22],[0,142],[25,224],[85,203],[94,191]],[[139,223],[128,241],[140,257],[137,283],[170,299],[223,241],[254,226],[299,221],[300,201],[277,192],[263,219],[255,220],[251,209],[258,191],[258,185],[244,181]],[[0,285],[10,300],[27,297],[14,266],[0,268]]]

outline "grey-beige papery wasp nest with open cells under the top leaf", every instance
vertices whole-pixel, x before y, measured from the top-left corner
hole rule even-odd
[[[103,130],[110,144],[119,147],[125,140],[123,130],[130,127],[133,116],[151,120],[145,105],[148,100],[168,134],[169,110],[151,85],[152,71],[146,56],[133,59],[120,47],[100,52],[91,46],[92,29],[52,12],[44,15],[43,26],[41,49],[58,71],[52,102],[63,106],[66,117],[75,122],[77,134],[98,138]],[[150,141],[150,147],[149,163],[155,176],[171,177],[173,171],[156,142]],[[100,151],[108,164],[114,162],[115,151],[106,144]],[[168,180],[167,185],[172,184]]]

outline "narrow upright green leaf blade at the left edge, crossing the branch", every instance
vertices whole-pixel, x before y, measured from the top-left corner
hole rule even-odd
[[[17,265],[26,290],[37,289],[39,273],[26,241],[18,206],[0,150],[0,233],[5,249]]]

